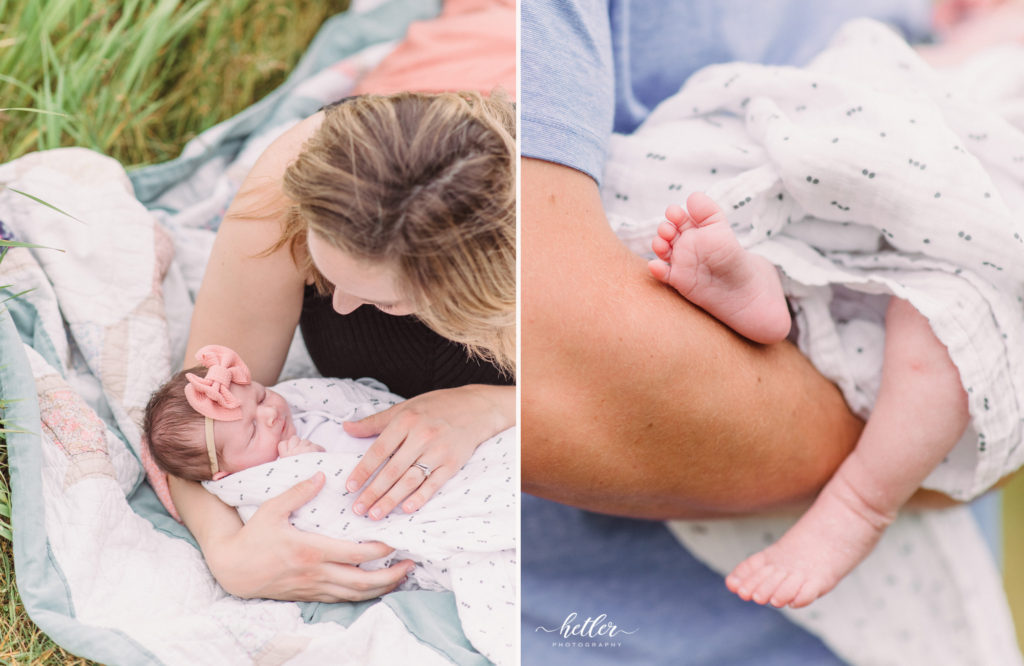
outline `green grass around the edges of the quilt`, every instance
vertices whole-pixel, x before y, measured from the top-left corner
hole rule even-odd
[[[280,85],[324,19],[347,5],[0,0],[0,163],[63,145],[126,167],[172,159]],[[13,584],[3,440],[12,427],[0,417],[0,663],[88,664],[39,631]]]

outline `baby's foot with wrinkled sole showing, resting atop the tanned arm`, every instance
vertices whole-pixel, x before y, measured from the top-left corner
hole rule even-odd
[[[790,310],[775,266],[740,247],[707,195],[693,193],[686,208],[665,211],[651,242],[660,260],[650,262],[650,272],[736,333],[766,344],[784,339]]]

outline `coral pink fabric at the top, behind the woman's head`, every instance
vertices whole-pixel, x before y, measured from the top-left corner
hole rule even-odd
[[[413,24],[406,39],[353,94],[500,87],[515,98],[515,1],[445,0],[438,17]]]

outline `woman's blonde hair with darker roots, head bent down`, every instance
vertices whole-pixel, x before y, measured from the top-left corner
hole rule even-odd
[[[397,270],[416,316],[514,374],[515,109],[501,92],[353,97],[291,164],[289,244],[322,292],[306,234]]]

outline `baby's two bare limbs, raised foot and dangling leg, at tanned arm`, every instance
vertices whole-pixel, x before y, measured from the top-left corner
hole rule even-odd
[[[694,193],[670,206],[650,270],[732,330],[762,343],[790,331],[775,266],[740,247],[725,213]],[[893,296],[874,410],[856,448],[777,543],[739,564],[726,585],[745,600],[793,608],[824,594],[867,554],[900,506],[968,425],[968,397],[928,320]]]

